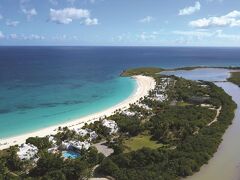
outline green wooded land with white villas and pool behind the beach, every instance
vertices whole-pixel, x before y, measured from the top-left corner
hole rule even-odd
[[[162,71],[123,71],[121,76],[155,80],[148,95],[128,108],[0,151],[0,179],[174,180],[199,171],[217,151],[236,104],[212,82]],[[228,80],[239,85],[239,77],[239,72],[232,72]]]

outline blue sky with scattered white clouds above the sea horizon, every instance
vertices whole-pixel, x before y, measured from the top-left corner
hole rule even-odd
[[[0,45],[240,46],[240,0],[0,0]]]

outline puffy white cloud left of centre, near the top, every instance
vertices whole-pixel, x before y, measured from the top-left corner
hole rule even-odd
[[[59,24],[69,24],[73,20],[80,20],[85,25],[98,24],[98,19],[92,19],[89,10],[76,8],[50,9],[50,20]]]

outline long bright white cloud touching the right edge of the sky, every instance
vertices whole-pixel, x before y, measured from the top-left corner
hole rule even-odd
[[[189,25],[197,28],[240,26],[240,11],[232,11],[224,16],[219,17],[198,19],[191,21]]]

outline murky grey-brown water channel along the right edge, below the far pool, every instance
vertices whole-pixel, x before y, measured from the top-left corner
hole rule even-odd
[[[238,107],[235,110],[235,117],[232,124],[228,127],[222,137],[218,150],[214,153],[214,156],[209,160],[207,164],[204,164],[200,171],[194,173],[192,176],[184,178],[185,180],[210,180],[210,179],[232,179],[237,180],[240,178],[239,163],[240,158],[238,156],[240,150],[240,143],[235,140],[235,137],[239,136],[240,127],[240,91],[239,87],[232,82],[220,82],[216,83],[217,86],[223,88],[223,90],[232,96],[233,100],[237,103]],[[225,171],[221,171],[225,169]],[[227,173],[226,173],[227,172]]]

